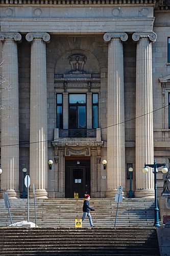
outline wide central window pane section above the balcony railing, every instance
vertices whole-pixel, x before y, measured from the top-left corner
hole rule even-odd
[[[86,94],[69,94],[69,129],[86,129]]]

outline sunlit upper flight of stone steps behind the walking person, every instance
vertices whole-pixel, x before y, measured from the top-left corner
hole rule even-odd
[[[11,199],[13,223],[27,221],[27,199]],[[37,225],[39,227],[75,227],[75,219],[82,217],[82,199],[36,199]],[[116,206],[114,199],[91,199],[90,206],[95,227],[114,227]],[[10,225],[8,209],[0,200],[0,226]],[[35,223],[34,200],[30,200],[30,221]],[[153,199],[124,199],[119,203],[116,227],[148,226],[154,223]],[[89,227],[88,218],[83,227]]]

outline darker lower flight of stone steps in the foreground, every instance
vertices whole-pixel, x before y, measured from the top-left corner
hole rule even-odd
[[[158,256],[156,229],[0,228],[0,255]]]

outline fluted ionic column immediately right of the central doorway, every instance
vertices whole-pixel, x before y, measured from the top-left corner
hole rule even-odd
[[[108,46],[108,111],[107,111],[107,197],[115,196],[117,186],[125,190],[125,109],[124,54],[126,33],[106,33]]]

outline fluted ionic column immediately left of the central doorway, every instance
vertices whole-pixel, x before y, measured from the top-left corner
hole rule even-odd
[[[30,88],[30,178],[37,198],[47,197],[47,94],[46,45],[47,33],[28,33],[31,44]]]

